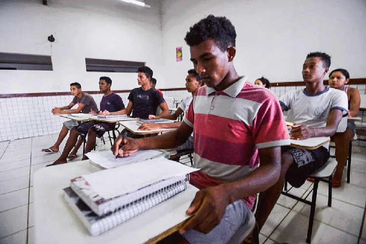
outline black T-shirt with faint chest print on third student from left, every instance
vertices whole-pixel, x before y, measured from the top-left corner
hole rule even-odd
[[[164,102],[162,94],[153,87],[147,91],[141,87],[133,89],[128,95],[128,100],[133,103],[132,117],[141,119],[155,114],[158,106]]]

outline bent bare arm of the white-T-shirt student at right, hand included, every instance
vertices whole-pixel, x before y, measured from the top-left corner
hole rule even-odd
[[[330,137],[336,133],[338,124],[342,119],[342,111],[339,109],[333,109],[329,112],[328,120],[325,127],[313,128],[306,127],[303,124],[292,125],[290,138],[303,140],[311,137]]]

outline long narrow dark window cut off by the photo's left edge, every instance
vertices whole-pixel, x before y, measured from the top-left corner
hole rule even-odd
[[[51,56],[0,53],[0,70],[53,70]]]

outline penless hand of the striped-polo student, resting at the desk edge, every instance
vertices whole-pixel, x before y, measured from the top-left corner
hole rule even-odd
[[[227,190],[223,185],[207,187],[196,193],[191,205],[185,212],[187,215],[194,214],[182,228],[180,234],[194,228],[207,234],[216,225],[220,224],[229,204]]]

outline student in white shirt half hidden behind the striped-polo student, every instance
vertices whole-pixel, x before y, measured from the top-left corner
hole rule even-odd
[[[169,114],[169,116],[150,115],[149,118],[150,119],[164,118],[164,119],[168,119],[168,120],[176,120],[182,113],[187,114],[189,104],[191,104],[194,94],[202,85],[203,85],[202,79],[201,79],[200,75],[196,72],[196,70],[194,70],[194,69],[188,70],[188,75],[185,78],[185,88],[188,90],[188,92],[192,93],[192,95],[190,95],[182,100],[181,104],[179,105],[179,108],[177,109],[177,111],[175,111],[174,114]],[[143,123],[139,127],[139,130],[154,130],[154,129],[160,129],[160,128],[178,128],[180,125],[181,125],[181,122]],[[188,140],[186,142],[184,142],[183,145],[180,145],[180,146],[177,146],[174,148],[174,150],[176,150],[178,153],[178,157],[180,156],[180,153],[182,153],[186,149],[193,149],[192,135],[188,137]]]

